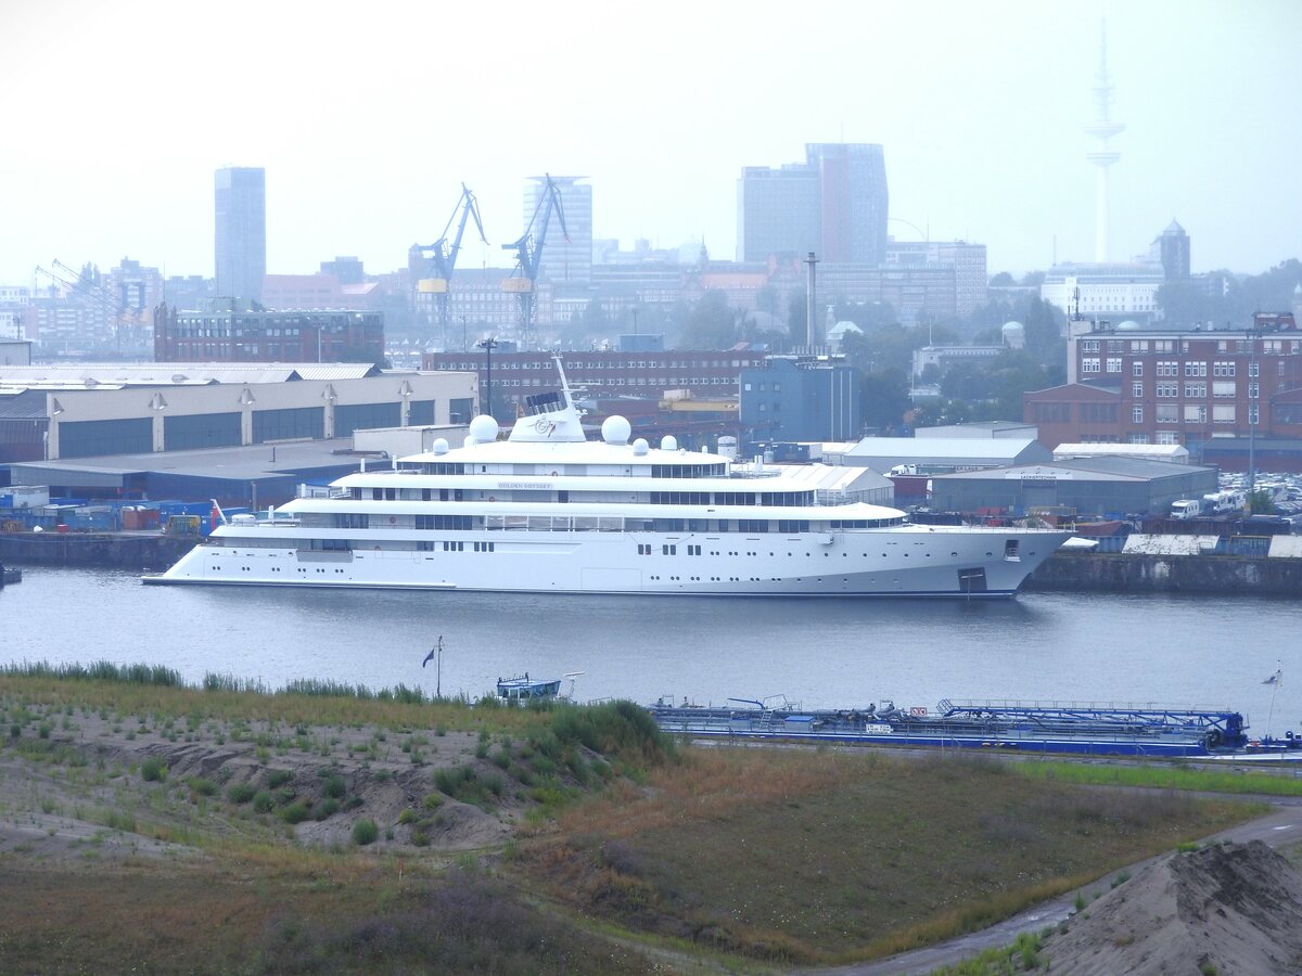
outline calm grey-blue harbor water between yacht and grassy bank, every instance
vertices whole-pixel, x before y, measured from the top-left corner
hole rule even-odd
[[[785,695],[1229,707],[1253,735],[1302,729],[1302,604],[1289,599],[1025,592],[1013,601],[747,600],[256,587],[145,587],[33,567],[0,590],[0,661],[208,671],[280,687],[323,678],[471,698],[497,677],[582,671],[575,698]],[[443,638],[441,671],[422,660]],[[1298,666],[1290,669],[1289,656]],[[1277,670],[1279,683],[1264,683]]]

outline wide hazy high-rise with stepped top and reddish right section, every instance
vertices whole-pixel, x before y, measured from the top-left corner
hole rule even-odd
[[[881,264],[888,206],[881,146],[806,144],[803,163],[742,169],[737,259],[815,251],[837,264]]]

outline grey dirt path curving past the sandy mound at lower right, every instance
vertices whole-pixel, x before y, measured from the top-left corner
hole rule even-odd
[[[1206,842],[1233,841],[1236,843],[1247,843],[1249,841],[1262,841],[1276,848],[1302,843],[1302,799],[1295,796],[1226,796],[1225,794],[1216,794],[1216,796],[1219,799],[1242,799],[1245,802],[1256,803],[1267,802],[1275,807],[1275,811],[1264,817],[1250,820],[1245,824],[1240,824],[1238,826],[1233,826],[1229,830],[1223,830],[1219,834],[1212,834],[1206,838]],[[1167,855],[1157,855],[1156,858],[1150,858],[1139,861],[1138,864],[1131,864],[1130,867],[1105,874],[1095,884],[1090,885],[1090,889],[1107,891],[1112,886],[1113,880],[1121,874],[1133,876],[1164,856]],[[997,925],[991,925],[988,929],[960,936],[958,938],[949,940],[948,942],[927,946],[926,949],[917,949],[911,953],[901,953],[900,955],[893,955],[889,959],[879,959],[871,963],[857,963],[853,966],[809,969],[802,972],[806,972],[810,976],[812,976],[812,973],[818,973],[818,976],[888,976],[897,973],[930,973],[943,966],[957,966],[965,959],[970,959],[987,949],[997,949],[1000,946],[1010,945],[1023,932],[1040,932],[1047,927],[1057,925],[1060,921],[1065,921],[1072,916],[1074,907],[1075,893],[1073,891],[1049,902],[1043,902],[1027,908],[1010,919],[1005,919]]]

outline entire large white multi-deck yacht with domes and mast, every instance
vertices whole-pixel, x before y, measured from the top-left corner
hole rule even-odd
[[[583,432],[560,392],[527,398],[505,440],[477,416],[393,470],[237,515],[146,583],[659,596],[1013,596],[1070,537],[1047,528],[910,524],[867,501],[863,468],[734,463]]]

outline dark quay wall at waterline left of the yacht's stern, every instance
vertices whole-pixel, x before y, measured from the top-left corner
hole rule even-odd
[[[194,544],[161,532],[3,532],[0,565],[161,571]]]

